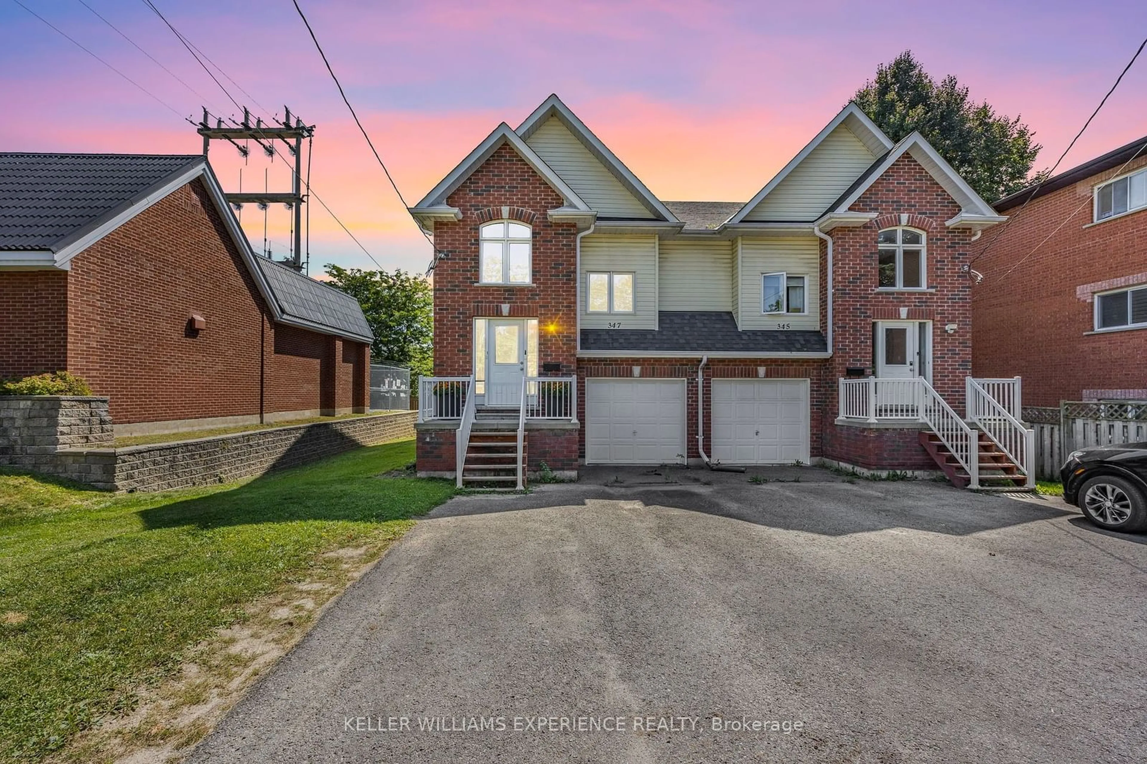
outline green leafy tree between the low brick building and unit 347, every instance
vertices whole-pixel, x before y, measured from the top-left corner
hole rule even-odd
[[[428,280],[403,270],[362,271],[329,263],[327,275],[327,283],[362,306],[374,332],[370,360],[409,367],[412,388],[415,375],[434,372],[434,291]]]

